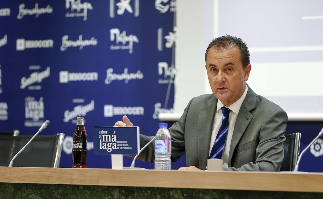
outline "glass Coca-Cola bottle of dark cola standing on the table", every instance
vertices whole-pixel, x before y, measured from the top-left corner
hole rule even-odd
[[[73,134],[73,166],[72,168],[86,168],[86,155],[88,153],[87,135],[84,128],[84,116],[78,115]]]

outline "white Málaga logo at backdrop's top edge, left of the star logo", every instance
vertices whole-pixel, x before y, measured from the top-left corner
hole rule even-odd
[[[88,19],[88,10],[93,10],[90,3],[81,3],[81,0],[65,0],[65,8],[71,10],[65,17],[83,17],[84,21]]]

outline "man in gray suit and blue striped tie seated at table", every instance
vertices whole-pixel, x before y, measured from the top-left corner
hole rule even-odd
[[[205,53],[213,94],[193,98],[169,131],[172,161],[186,153],[182,170],[205,170],[208,158],[221,158],[224,170],[279,171],[287,114],[246,85],[251,65],[244,41],[234,36],[214,39]],[[127,116],[116,126],[132,126]],[[141,147],[152,137],[140,136]],[[154,161],[154,145],[138,157]]]

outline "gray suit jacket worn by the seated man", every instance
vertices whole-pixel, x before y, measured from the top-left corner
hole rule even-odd
[[[205,170],[217,101],[213,94],[193,98],[181,118],[169,128],[173,162],[186,152],[187,166]],[[286,125],[286,112],[248,87],[234,126],[229,167],[224,170],[279,171],[284,157]],[[140,135],[141,147],[151,138]],[[150,162],[154,158],[153,144],[138,157]]]

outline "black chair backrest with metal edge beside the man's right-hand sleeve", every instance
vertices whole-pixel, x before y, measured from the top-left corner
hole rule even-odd
[[[284,159],[280,171],[293,171],[298,160],[301,134],[293,133],[285,135],[285,137]]]

